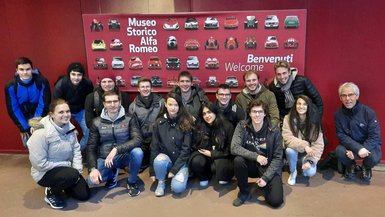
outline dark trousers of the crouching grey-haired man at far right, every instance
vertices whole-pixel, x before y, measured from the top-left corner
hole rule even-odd
[[[337,158],[339,161],[341,161],[341,163],[344,166],[350,167],[356,163],[355,162],[356,159],[360,159],[360,156],[358,156],[358,153],[353,152],[355,160],[350,160],[346,156],[346,150],[347,149],[345,148],[345,146],[338,145],[336,149]],[[370,155],[363,159],[362,165],[365,166],[366,168],[373,168],[380,162],[380,160],[381,160],[381,149],[378,148],[378,150],[371,151]]]

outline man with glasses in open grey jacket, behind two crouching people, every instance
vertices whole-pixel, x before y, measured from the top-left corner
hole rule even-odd
[[[141,170],[148,167],[150,163],[150,145],[152,130],[155,120],[163,110],[164,99],[158,93],[152,92],[152,83],[148,78],[141,78],[138,81],[139,95],[130,104],[129,113],[135,114],[139,121],[142,133],[141,148],[144,153]]]

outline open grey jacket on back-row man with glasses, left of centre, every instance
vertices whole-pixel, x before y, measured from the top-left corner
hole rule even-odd
[[[151,138],[155,120],[164,107],[164,99],[162,96],[157,93],[152,94],[154,94],[154,99],[150,108],[147,109],[143,102],[136,97],[130,104],[128,111],[131,115],[135,114],[138,117],[143,138]]]

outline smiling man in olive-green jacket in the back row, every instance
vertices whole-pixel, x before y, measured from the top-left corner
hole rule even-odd
[[[268,116],[273,126],[279,124],[279,111],[274,94],[265,86],[259,83],[259,75],[255,71],[247,71],[243,74],[245,88],[237,95],[235,103],[239,105],[244,112],[253,99],[259,99],[268,106]]]

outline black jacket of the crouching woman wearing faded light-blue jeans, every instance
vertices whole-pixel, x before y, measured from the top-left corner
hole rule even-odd
[[[166,115],[159,117],[154,125],[151,141],[151,164],[160,153],[167,155],[173,166],[170,172],[177,172],[190,158],[192,132],[182,132],[179,124],[170,124]],[[153,166],[150,167],[150,175],[154,176]]]

